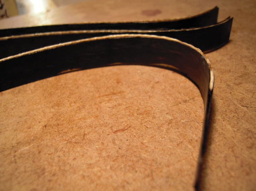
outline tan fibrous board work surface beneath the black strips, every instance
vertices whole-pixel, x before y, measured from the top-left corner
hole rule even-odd
[[[214,6],[234,21],[230,42],[207,54],[215,84],[203,188],[255,190],[255,1],[95,0],[0,28],[184,18]],[[193,190],[204,108],[180,74],[78,71],[1,92],[0,104],[0,190]]]

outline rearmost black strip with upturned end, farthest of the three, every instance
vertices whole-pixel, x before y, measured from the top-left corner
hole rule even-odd
[[[155,21],[135,21],[135,22],[108,22],[108,23],[81,23],[81,24],[62,24],[26,28],[14,28],[0,30],[0,37],[42,33],[52,31],[71,31],[71,30],[168,30],[168,29],[188,29],[193,27],[205,27],[217,23],[219,8],[215,7],[209,11],[193,17],[173,20]]]

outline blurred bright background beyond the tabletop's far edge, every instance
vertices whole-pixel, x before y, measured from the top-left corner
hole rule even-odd
[[[88,0],[0,0],[1,19],[19,14],[47,12],[52,8]]]

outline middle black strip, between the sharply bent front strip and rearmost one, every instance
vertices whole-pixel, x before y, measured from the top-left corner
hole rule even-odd
[[[50,46],[53,44],[73,40],[106,36],[110,34],[154,34],[176,38],[192,44],[203,52],[210,52],[222,47],[229,41],[232,18],[201,28],[179,30],[79,30],[59,31],[36,34],[24,34],[0,38],[0,58],[9,57],[18,53]]]

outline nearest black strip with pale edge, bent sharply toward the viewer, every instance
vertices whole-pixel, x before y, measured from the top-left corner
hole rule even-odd
[[[190,44],[168,37],[121,34],[48,46],[1,59],[0,91],[67,71],[113,64],[164,64],[166,68],[178,69],[197,84],[204,101],[204,123],[195,182],[195,188],[199,189],[214,76],[210,61]]]

